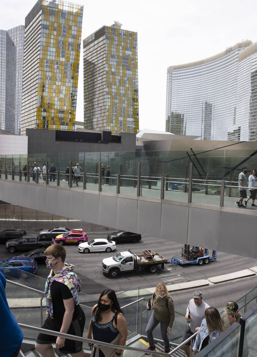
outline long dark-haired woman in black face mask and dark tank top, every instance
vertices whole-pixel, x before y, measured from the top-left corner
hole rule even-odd
[[[87,338],[125,346],[128,335],[127,323],[113,290],[106,289],[101,293],[98,303],[92,308],[91,316]],[[106,346],[99,346],[99,356],[96,351],[96,345],[93,345],[92,357],[119,357],[123,355],[123,350]]]

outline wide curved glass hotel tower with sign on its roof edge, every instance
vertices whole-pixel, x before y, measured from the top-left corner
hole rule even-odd
[[[257,43],[167,70],[165,130],[201,140],[257,140]]]

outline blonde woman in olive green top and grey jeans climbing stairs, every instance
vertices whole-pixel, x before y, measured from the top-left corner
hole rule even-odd
[[[164,352],[168,353],[170,351],[170,343],[168,338],[168,332],[171,331],[175,311],[172,297],[170,296],[167,287],[164,283],[158,283],[155,288],[155,293],[151,300],[151,306],[153,306],[153,313],[148,321],[146,334],[148,338],[148,352],[146,355],[150,355],[150,351],[155,351],[155,344],[153,338],[153,330],[160,323],[161,337],[164,342]]]

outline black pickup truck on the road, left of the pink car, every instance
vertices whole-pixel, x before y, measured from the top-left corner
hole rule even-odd
[[[16,250],[31,250],[34,248],[47,248],[53,243],[53,238],[42,238],[35,234],[25,234],[22,238],[10,239],[5,243],[5,249],[10,253]]]

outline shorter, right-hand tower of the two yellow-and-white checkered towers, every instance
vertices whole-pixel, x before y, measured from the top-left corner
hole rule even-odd
[[[137,32],[115,21],[83,41],[84,127],[139,131]]]

